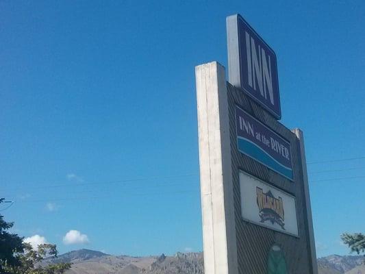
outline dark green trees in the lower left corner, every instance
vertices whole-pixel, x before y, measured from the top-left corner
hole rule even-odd
[[[3,199],[0,199],[0,203]],[[55,245],[38,245],[35,250],[17,234],[8,230],[14,223],[7,223],[0,214],[0,273],[1,274],[62,274],[70,263],[40,264],[46,257],[57,257]]]

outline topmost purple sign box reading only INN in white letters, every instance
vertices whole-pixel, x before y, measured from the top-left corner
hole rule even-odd
[[[273,49],[239,15],[227,17],[229,82],[281,119],[277,61]]]

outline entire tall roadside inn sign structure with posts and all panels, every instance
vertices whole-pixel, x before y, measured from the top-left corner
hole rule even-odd
[[[303,132],[279,123],[276,55],[227,18],[229,82],[195,69],[205,274],[317,274]]]

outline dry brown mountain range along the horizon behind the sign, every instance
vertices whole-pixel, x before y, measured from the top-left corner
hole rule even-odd
[[[365,274],[364,256],[331,255],[318,259],[318,274]],[[51,262],[71,262],[66,274],[203,274],[203,253],[176,253],[175,256],[112,256],[80,249],[64,253]]]

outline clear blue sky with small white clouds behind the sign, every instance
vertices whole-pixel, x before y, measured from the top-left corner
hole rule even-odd
[[[365,227],[363,1],[1,1],[14,231],[61,253],[201,251],[194,66],[227,67],[235,13],[275,50],[281,122],[305,133],[318,256],[347,254],[340,234]]]

